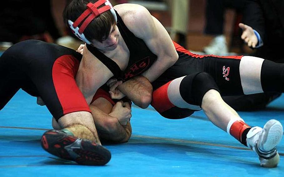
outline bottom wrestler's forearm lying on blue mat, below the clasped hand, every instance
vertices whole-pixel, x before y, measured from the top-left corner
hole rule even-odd
[[[113,142],[127,142],[131,136],[131,126],[122,126],[116,117],[90,105],[95,126],[100,139]]]

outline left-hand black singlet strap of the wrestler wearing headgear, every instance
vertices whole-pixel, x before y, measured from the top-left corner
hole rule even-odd
[[[115,63],[115,61],[111,60],[109,57],[105,56],[102,52],[97,50],[95,47],[86,44],[87,49],[95,55],[111,72],[115,77],[120,77],[121,70],[120,67]]]

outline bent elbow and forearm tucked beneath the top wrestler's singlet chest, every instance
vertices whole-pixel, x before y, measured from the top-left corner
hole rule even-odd
[[[153,87],[144,76],[136,76],[119,85],[118,89],[141,108],[147,108],[152,101]]]

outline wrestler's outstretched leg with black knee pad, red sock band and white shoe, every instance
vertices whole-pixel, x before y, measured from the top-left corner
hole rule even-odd
[[[237,112],[223,101],[215,80],[208,73],[201,72],[174,79],[168,85],[164,93],[167,93],[167,99],[172,107],[196,110],[198,107],[203,108],[214,125],[257,152],[263,166],[277,166],[279,155],[275,146],[280,142],[283,134],[280,122],[270,120],[263,129],[247,125]],[[157,104],[158,98],[154,98],[154,95],[155,93],[153,93],[153,107],[163,111],[164,107]],[[169,108],[171,106],[164,109]]]

